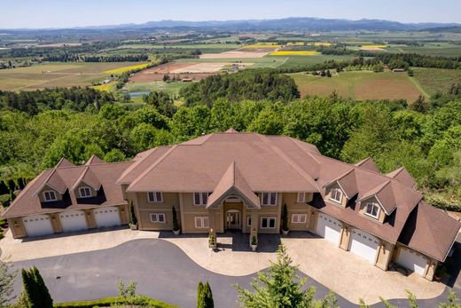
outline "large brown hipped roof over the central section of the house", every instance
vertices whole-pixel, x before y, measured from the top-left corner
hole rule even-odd
[[[230,162],[237,163],[254,192],[318,191],[309,170],[319,166],[306,154],[316,152],[314,146],[297,146],[290,139],[235,132],[202,136],[160,155],[137,173],[128,191],[212,192]]]

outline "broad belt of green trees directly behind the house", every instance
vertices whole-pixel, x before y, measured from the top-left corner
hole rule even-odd
[[[421,99],[418,106],[424,108],[420,109],[404,101],[352,101],[337,95],[298,99],[292,83],[285,79],[289,77],[278,77],[262,77],[275,84],[271,89],[277,90],[277,83],[285,84],[277,95],[266,93],[271,99],[261,99],[260,94],[251,99],[246,91],[232,96],[236,93],[229,91],[230,84],[254,83],[247,75],[239,83],[231,78],[216,82],[214,77],[189,88],[198,91],[196,96],[189,94],[190,106],[178,108],[161,92],[145,96],[145,105],[136,110],[90,89],[0,93],[4,109],[0,112],[2,199],[12,198],[14,189],[63,156],[75,163],[88,160],[91,154],[106,162],[121,161],[152,146],[172,145],[232,127],[299,138],[316,145],[322,154],[346,162],[371,156],[382,172],[405,166],[428,201],[461,210],[461,99],[457,87],[441,95],[448,102],[433,105]],[[264,84],[256,88],[265,91]],[[204,95],[207,91],[214,95]]]

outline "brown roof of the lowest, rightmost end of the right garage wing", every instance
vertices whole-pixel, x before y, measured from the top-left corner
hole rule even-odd
[[[448,214],[420,201],[403,227],[399,241],[411,249],[443,262],[461,228]]]

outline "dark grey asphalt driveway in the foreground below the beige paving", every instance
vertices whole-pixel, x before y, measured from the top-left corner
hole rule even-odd
[[[170,304],[194,307],[199,280],[210,282],[216,307],[238,307],[238,283],[250,288],[254,275],[230,277],[209,272],[195,264],[176,245],[163,240],[129,241],[113,249],[103,249],[59,257],[45,257],[14,263],[17,269],[37,266],[51,291],[55,303],[90,300],[117,295],[119,279],[137,281],[137,292]],[[305,276],[301,273],[301,276]],[[315,280],[307,285],[316,287],[316,297],[322,298],[328,289]],[[15,281],[15,294],[21,289],[20,277]],[[448,290],[438,298],[420,300],[420,307],[434,307]],[[406,300],[391,303],[405,306]],[[403,304],[405,303],[405,304]],[[356,307],[338,296],[340,307]],[[382,307],[375,304],[372,307]]]

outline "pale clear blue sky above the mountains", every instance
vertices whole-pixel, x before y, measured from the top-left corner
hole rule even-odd
[[[0,28],[284,17],[461,22],[461,0],[0,0]]]

